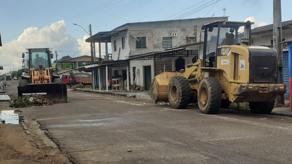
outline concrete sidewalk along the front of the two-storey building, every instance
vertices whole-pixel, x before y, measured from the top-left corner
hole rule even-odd
[[[100,90],[99,89],[91,89],[91,88],[77,88],[74,91],[82,91],[89,93],[98,93],[98,94],[106,94],[106,95],[116,95],[116,96],[125,96],[125,97],[135,97],[138,99],[152,100],[150,95],[148,95],[148,91],[128,91],[128,90]]]

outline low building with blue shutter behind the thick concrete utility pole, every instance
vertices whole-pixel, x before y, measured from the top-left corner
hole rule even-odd
[[[282,22],[282,41],[292,38],[292,20]],[[256,27],[251,30],[251,45],[273,47],[273,25]],[[284,83],[287,84],[287,92],[284,95],[285,100],[289,100],[289,64],[288,64],[288,44],[283,43],[283,69]]]

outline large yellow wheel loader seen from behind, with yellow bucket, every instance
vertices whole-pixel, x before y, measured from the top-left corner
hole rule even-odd
[[[204,114],[216,114],[231,102],[248,102],[251,112],[270,114],[276,96],[286,93],[286,84],[277,83],[277,51],[250,46],[251,24],[215,21],[203,25],[199,60],[187,64],[184,72],[155,76],[149,91],[152,99],[168,101],[175,109],[197,102]]]

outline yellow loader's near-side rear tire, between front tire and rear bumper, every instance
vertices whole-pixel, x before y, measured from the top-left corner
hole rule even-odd
[[[206,77],[199,84],[198,105],[201,113],[216,114],[221,107],[222,90],[218,79]]]

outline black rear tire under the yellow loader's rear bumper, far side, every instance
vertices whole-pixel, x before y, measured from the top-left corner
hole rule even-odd
[[[248,105],[252,113],[271,114],[275,105],[275,100],[268,102],[248,102]]]

